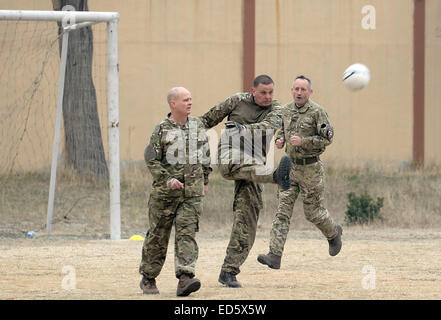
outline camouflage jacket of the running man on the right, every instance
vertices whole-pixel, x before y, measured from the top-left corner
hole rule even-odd
[[[330,145],[334,138],[328,114],[317,103],[308,100],[298,108],[294,102],[276,108],[260,123],[246,126],[250,129],[281,129],[276,139],[285,139],[285,150],[293,159],[304,159],[319,156]],[[297,135],[302,138],[302,145],[294,147],[290,137]]]

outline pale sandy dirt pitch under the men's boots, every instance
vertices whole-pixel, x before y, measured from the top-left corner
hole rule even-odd
[[[217,278],[228,232],[200,233],[201,289],[185,300],[441,299],[441,230],[346,227],[343,249],[328,255],[318,231],[290,233],[280,270],[259,264],[269,230],[259,230],[237,276],[243,288]],[[0,239],[0,299],[177,299],[173,241],[157,278],[160,295],[143,296],[138,265],[142,241],[37,235]]]

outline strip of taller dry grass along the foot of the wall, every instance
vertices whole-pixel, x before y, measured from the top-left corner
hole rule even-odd
[[[201,229],[231,228],[234,183],[214,172],[204,201]],[[122,236],[145,233],[150,174],[142,164],[123,167],[121,172]],[[44,233],[49,190],[49,174],[27,173],[0,177],[0,236],[22,237],[28,230]],[[269,230],[277,209],[276,186],[265,185],[264,209],[259,229]],[[384,198],[382,222],[373,228],[441,227],[440,170],[354,170],[327,168],[326,206],[331,215],[344,223],[347,194],[367,192]],[[107,183],[77,177],[59,169],[55,196],[53,232],[55,234],[106,238],[109,234],[109,190]],[[315,230],[303,215],[301,199],[296,203],[292,230]]]

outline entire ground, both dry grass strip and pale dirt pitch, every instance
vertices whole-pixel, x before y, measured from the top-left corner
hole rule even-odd
[[[441,172],[327,171],[326,205],[338,222],[344,221],[351,191],[384,197],[384,220],[345,226],[342,252],[330,257],[327,241],[306,221],[299,201],[282,268],[270,270],[256,261],[268,250],[277,208],[276,188],[266,185],[256,242],[238,275],[243,288],[225,288],[217,277],[231,229],[233,182],[214,173],[198,234],[196,272],[202,288],[187,299],[440,299]],[[138,287],[142,242],[105,240],[106,183],[59,170],[50,237],[45,236],[48,189],[47,173],[0,178],[0,299],[176,299],[173,241],[157,279],[161,294],[150,297]],[[149,192],[144,166],[122,170],[123,239],[146,231]],[[24,239],[27,230],[37,231],[37,237]],[[74,290],[62,287],[65,266],[75,269]],[[373,289],[363,287],[366,266],[376,272]]]

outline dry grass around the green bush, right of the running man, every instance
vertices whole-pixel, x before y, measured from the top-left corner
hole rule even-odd
[[[346,211],[349,192],[357,194],[367,192],[373,199],[384,198],[384,206],[381,209],[383,226],[397,228],[441,226],[440,171],[329,170],[327,186],[327,199],[331,212]]]

